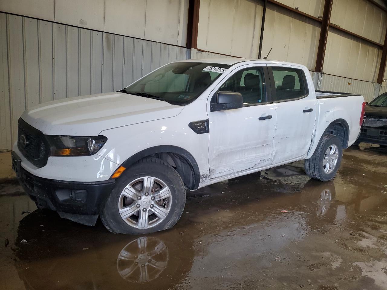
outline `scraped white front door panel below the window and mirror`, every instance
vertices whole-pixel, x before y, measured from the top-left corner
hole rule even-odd
[[[268,115],[272,118],[259,120]],[[276,124],[273,104],[211,112],[209,120],[211,178],[269,167]]]

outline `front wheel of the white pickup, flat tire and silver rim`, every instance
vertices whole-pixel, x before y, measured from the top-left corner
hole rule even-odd
[[[185,186],[176,170],[157,158],[126,169],[100,213],[110,232],[147,234],[173,227],[185,205]]]

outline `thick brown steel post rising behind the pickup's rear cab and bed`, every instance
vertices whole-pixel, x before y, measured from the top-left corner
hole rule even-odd
[[[328,38],[331,12],[332,12],[332,0],[325,0],[324,12],[322,14],[319,46],[317,48],[315,72],[322,72],[322,67],[324,65],[324,56],[325,56],[325,49],[327,48],[327,38]]]

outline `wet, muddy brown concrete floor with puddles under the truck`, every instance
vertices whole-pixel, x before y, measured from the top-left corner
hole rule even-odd
[[[327,183],[295,162],[200,189],[173,229],[144,236],[44,216],[9,159],[0,153],[0,289],[387,289],[378,146],[347,149]]]

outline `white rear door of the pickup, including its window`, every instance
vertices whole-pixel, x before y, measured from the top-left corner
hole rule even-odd
[[[305,71],[301,67],[271,64],[268,69],[277,114],[272,163],[303,159],[312,142],[316,98],[309,93]]]

